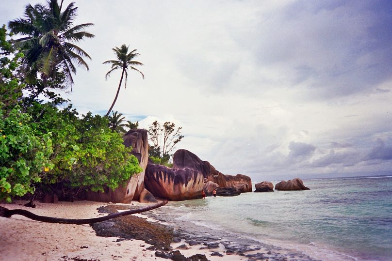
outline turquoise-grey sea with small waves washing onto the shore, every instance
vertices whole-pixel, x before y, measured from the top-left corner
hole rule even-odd
[[[310,190],[169,202],[157,214],[191,233],[314,260],[392,260],[392,176],[303,181]]]

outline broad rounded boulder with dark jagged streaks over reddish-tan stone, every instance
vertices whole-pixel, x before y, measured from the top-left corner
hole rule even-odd
[[[144,184],[155,197],[174,201],[192,200],[201,198],[204,177],[197,169],[170,169],[148,163]]]

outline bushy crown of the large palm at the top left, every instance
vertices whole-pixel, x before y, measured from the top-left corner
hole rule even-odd
[[[94,34],[82,31],[92,26],[91,23],[73,26],[77,7],[70,3],[61,12],[63,0],[59,6],[57,0],[49,0],[47,5],[27,5],[24,17],[10,21],[8,26],[13,33],[25,37],[15,40],[15,45],[24,49],[25,59],[29,65],[28,75],[53,78],[56,72],[65,74],[66,83],[73,85],[72,74],[76,73],[74,62],[88,70],[83,58],[90,56],[75,43],[83,38],[93,38]],[[71,89],[72,90],[72,89]]]

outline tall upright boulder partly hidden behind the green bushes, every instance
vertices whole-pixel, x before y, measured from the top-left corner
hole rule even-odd
[[[144,189],[144,175],[148,161],[148,139],[147,131],[144,129],[131,129],[123,136],[125,147],[132,146],[132,154],[139,160],[142,172],[134,174],[127,182],[126,186],[119,186],[115,190],[109,188],[105,192],[86,192],[86,200],[100,202],[130,203],[131,200],[138,200],[140,193]]]

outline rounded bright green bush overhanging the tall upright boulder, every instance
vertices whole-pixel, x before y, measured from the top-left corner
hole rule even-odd
[[[141,171],[131,148],[125,148],[121,136],[108,127],[106,117],[91,113],[79,116],[70,106],[59,110],[50,103],[35,103],[29,113],[35,119],[33,128],[38,135],[48,130],[52,133],[50,160],[54,167],[44,182],[61,182],[57,194],[71,193],[72,188],[78,188],[78,192],[86,188],[103,191],[104,186],[115,189]]]

